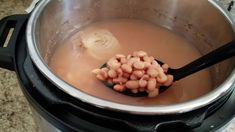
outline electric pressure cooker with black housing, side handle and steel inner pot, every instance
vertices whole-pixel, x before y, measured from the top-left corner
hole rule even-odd
[[[137,106],[93,97],[61,80],[48,61],[56,46],[103,19],[144,19],[185,37],[202,54],[234,39],[216,1],[42,0],[31,14],[0,21],[0,66],[15,70],[41,131],[222,131],[235,122],[234,58],[211,67],[214,90],[172,105]],[[5,46],[10,29],[13,34]]]

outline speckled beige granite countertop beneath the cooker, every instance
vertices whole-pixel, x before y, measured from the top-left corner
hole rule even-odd
[[[231,0],[221,0],[225,5]],[[0,19],[19,13],[31,0],[0,0]],[[38,132],[32,112],[24,97],[15,72],[0,68],[0,132]]]

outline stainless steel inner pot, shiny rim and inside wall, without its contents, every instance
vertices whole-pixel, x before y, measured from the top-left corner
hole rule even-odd
[[[180,104],[125,105],[90,96],[58,78],[48,66],[57,46],[81,27],[104,19],[132,18],[158,24],[186,38],[202,53],[234,38],[233,21],[216,1],[206,0],[42,0],[27,26],[27,44],[37,68],[65,93],[101,108],[132,114],[175,114],[215,102],[233,88],[234,59],[210,68],[214,90]]]

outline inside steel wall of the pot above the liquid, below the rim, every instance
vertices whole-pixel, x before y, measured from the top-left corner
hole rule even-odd
[[[234,37],[225,17],[205,0],[52,0],[37,22],[38,47],[48,63],[57,46],[87,24],[117,18],[142,19],[184,37],[201,54]],[[234,59],[210,68],[213,87],[234,68]]]

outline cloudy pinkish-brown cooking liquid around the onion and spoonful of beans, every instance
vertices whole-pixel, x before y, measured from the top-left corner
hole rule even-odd
[[[118,40],[119,48],[103,50],[101,56],[91,55],[79,45],[79,33],[68,38],[56,49],[50,61],[55,73],[79,90],[98,98],[133,105],[174,104],[197,98],[211,90],[209,70],[188,76],[155,98],[129,97],[115,92],[96,79],[91,71],[106,63],[117,53],[128,55],[143,50],[172,68],[179,68],[200,57],[200,53],[186,40],[169,30],[141,20],[117,19],[96,22],[84,31],[105,29]],[[86,32],[84,32],[86,33]]]

